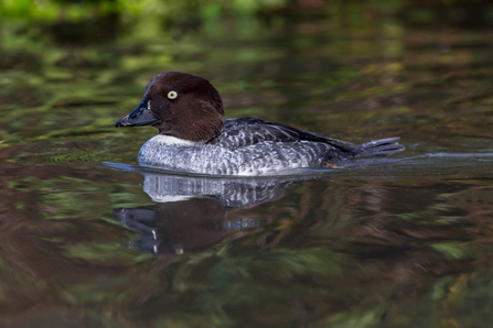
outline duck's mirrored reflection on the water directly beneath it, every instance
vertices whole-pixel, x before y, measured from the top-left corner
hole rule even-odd
[[[201,251],[226,239],[229,230],[260,227],[258,219],[227,220],[228,209],[278,198],[297,179],[143,175],[143,190],[157,204],[114,212],[141,233],[132,245],[157,255]]]

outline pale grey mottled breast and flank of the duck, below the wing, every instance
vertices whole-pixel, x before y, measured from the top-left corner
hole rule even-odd
[[[319,142],[274,142],[229,149],[221,143],[169,145],[157,135],[140,149],[138,162],[182,172],[216,175],[264,175],[300,167],[323,167],[326,154],[335,152]]]

